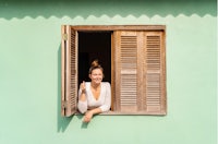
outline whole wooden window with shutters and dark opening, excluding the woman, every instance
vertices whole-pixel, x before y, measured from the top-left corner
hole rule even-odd
[[[84,70],[99,57],[111,83],[109,113],[166,115],[165,26],[63,25],[61,32],[62,116],[77,111],[80,81],[88,75]]]

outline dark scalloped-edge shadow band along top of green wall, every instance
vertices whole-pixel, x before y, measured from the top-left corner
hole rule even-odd
[[[2,0],[0,3],[0,17],[10,20],[25,16],[63,17],[89,15],[110,17],[154,15],[167,16],[179,14],[216,16],[216,0]]]

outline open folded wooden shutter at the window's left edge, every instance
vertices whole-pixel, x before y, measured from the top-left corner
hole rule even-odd
[[[69,117],[76,112],[77,32],[63,25],[61,33],[61,115]]]

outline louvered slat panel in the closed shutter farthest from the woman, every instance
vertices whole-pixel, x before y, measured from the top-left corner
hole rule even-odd
[[[148,112],[160,112],[162,98],[162,61],[161,61],[161,32],[145,33],[146,51],[146,110]]]

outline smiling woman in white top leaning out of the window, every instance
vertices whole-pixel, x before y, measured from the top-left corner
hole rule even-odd
[[[89,122],[94,115],[108,111],[111,105],[111,88],[108,82],[102,82],[104,69],[98,60],[92,62],[90,82],[84,82],[78,91],[78,110],[85,113],[83,121]]]

